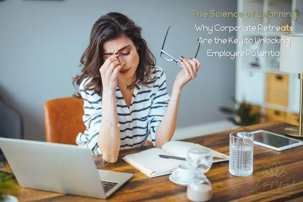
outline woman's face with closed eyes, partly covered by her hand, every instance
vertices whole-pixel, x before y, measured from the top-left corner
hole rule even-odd
[[[103,44],[104,61],[116,52],[119,52],[118,59],[122,67],[118,73],[118,79],[135,81],[135,72],[139,64],[138,48],[126,36],[121,36]]]

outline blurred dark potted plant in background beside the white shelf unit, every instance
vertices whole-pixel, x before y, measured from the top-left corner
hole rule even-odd
[[[219,108],[220,112],[230,115],[230,117],[227,118],[228,120],[238,126],[260,123],[261,113],[252,111],[252,106],[245,101],[238,103],[235,99],[232,100],[236,104],[235,109],[228,107]]]

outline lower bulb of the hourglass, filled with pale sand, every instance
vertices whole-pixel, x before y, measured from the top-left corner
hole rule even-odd
[[[191,201],[208,201],[213,196],[212,184],[206,177],[200,177],[187,186],[186,195]]]

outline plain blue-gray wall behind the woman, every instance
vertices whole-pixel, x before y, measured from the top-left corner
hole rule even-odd
[[[110,3],[111,2],[111,3]],[[165,50],[175,57],[193,57],[194,24],[236,25],[235,19],[194,19],[190,10],[236,11],[236,0],[207,1],[31,1],[0,2],[0,94],[22,113],[25,138],[45,140],[43,104],[74,92],[72,77],[80,72],[79,59],[88,45],[92,24],[102,14],[117,11],[143,28],[143,37],[167,75],[168,91],[181,69],[160,58],[169,25],[173,25]],[[235,36],[215,33],[213,36]],[[222,105],[232,106],[235,61],[207,57],[206,50],[234,45],[201,45],[198,77],[183,89],[177,127],[224,120]]]

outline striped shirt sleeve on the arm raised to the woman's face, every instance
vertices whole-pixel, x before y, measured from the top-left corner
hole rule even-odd
[[[89,148],[91,152],[97,156],[101,154],[98,145],[98,135],[102,119],[102,98],[93,90],[84,90],[84,86],[88,82],[89,78],[84,79],[79,86],[80,94],[84,102],[84,115],[82,119],[86,129],[83,133],[78,134],[76,143],[79,146]]]

